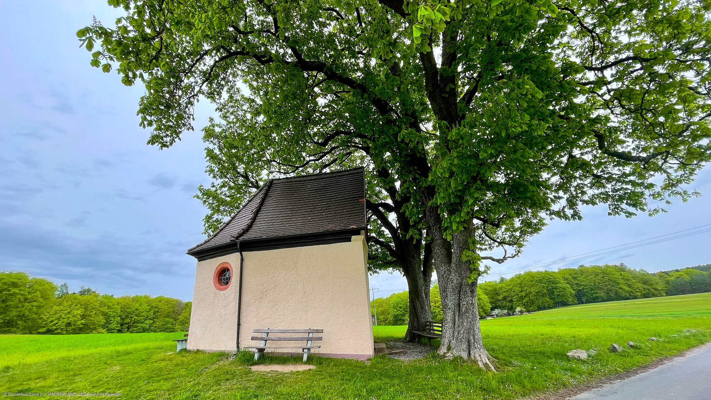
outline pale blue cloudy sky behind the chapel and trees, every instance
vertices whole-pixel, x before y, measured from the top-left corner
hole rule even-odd
[[[0,270],[23,270],[114,295],[190,300],[205,209],[193,199],[204,173],[200,132],[171,149],[146,144],[136,116],[142,88],[89,65],[77,29],[92,16],[109,25],[119,13],[105,1],[0,0]],[[202,102],[195,126],[211,114]],[[711,171],[691,186],[711,194]],[[492,274],[711,223],[711,197],[635,219],[586,209],[585,220],[553,221],[523,255]],[[650,271],[711,263],[711,233],[587,258]],[[509,276],[509,275],[507,275]],[[371,287],[389,295],[407,287],[387,273]]]

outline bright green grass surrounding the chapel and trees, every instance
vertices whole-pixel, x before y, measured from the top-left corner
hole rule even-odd
[[[304,372],[261,373],[250,354],[172,353],[181,334],[0,336],[1,391],[121,392],[124,399],[515,399],[581,384],[711,340],[711,293],[562,307],[482,321],[498,373],[432,354],[402,362],[314,357]],[[687,329],[696,330],[685,334]],[[378,341],[405,327],[375,327]],[[670,335],[678,335],[672,337]],[[649,342],[648,337],[663,342]],[[612,354],[613,342],[642,345]],[[571,349],[599,350],[586,361]],[[300,362],[265,357],[262,362]]]

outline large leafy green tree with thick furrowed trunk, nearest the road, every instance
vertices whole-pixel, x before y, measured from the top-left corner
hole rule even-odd
[[[710,159],[705,1],[109,4],[126,11],[115,28],[77,34],[100,46],[92,65],[146,86],[149,143],[192,129],[203,96],[263,135],[235,142],[259,157],[263,143],[296,165],[365,157],[431,238],[439,352],[482,367],[482,260],[515,255],[546,218],[579,219],[582,205],[632,216],[688,199],[683,185]],[[510,253],[481,256],[498,246]]]

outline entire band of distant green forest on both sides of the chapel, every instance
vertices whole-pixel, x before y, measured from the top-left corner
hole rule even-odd
[[[562,305],[711,292],[711,264],[648,273],[619,265],[533,271],[483,282],[479,315],[491,310],[538,311]],[[432,319],[442,320],[437,285],[430,291]],[[150,295],[114,297],[80,287],[0,272],[0,334],[181,332],[190,325],[191,302]],[[378,325],[406,325],[407,292],[370,303]]]

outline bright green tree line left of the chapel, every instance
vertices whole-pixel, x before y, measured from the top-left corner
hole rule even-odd
[[[165,296],[114,297],[24,272],[0,271],[0,334],[181,332],[191,302]]]

